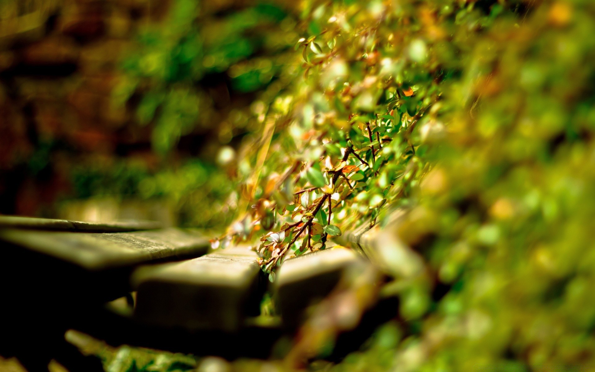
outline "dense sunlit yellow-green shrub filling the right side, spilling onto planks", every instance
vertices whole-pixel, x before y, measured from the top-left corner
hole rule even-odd
[[[264,263],[405,210],[402,340],[336,368],[592,368],[593,4],[302,6],[246,181]]]

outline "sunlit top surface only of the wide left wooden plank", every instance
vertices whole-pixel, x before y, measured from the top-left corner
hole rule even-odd
[[[3,229],[0,240],[90,271],[205,254],[208,240],[180,229],[73,233]]]

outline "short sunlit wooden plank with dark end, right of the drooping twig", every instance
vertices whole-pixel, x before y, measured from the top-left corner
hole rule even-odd
[[[275,304],[285,327],[295,328],[307,307],[324,298],[339,282],[343,271],[364,260],[351,249],[334,246],[283,262],[273,285]]]

